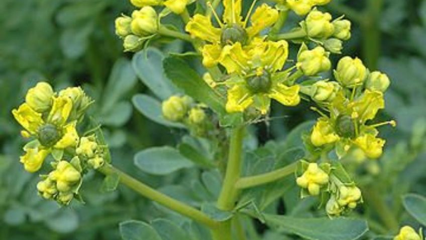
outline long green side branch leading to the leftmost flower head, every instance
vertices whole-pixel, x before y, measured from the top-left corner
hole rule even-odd
[[[163,193],[158,192],[155,189],[150,188],[149,186],[139,182],[138,180],[132,178],[126,173],[114,168],[112,165],[104,165],[98,171],[104,175],[117,174],[120,178],[120,182],[129,188],[133,189],[135,192],[140,195],[157,202],[175,212],[178,212],[186,217],[193,219],[199,223],[206,225],[211,229],[216,229],[218,227],[218,222],[208,217],[203,212],[186,205],[180,201],[177,201],[174,198],[171,198]]]

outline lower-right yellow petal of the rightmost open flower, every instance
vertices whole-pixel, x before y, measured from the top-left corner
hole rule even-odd
[[[376,137],[374,134],[363,134],[355,139],[355,144],[360,147],[369,158],[379,158],[383,153],[385,140]]]

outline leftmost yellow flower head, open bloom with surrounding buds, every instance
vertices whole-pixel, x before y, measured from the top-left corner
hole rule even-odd
[[[25,170],[37,172],[49,155],[53,157],[53,171],[41,175],[43,180],[37,185],[44,198],[68,204],[78,194],[83,169],[103,163],[99,159],[97,164],[90,164],[88,159],[80,162],[77,152],[85,141],[85,137],[80,138],[77,125],[91,103],[81,88],[55,93],[48,83],[40,82],[28,91],[25,103],[12,111],[24,128],[22,135],[32,139],[24,146],[25,154],[21,156]]]

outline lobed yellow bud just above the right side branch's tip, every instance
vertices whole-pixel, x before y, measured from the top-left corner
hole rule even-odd
[[[322,186],[328,184],[329,175],[318,167],[316,163],[310,163],[302,176],[296,179],[297,185],[306,188],[310,195],[319,195]]]

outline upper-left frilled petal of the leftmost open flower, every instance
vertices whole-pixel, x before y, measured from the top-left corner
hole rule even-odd
[[[37,129],[44,123],[42,114],[36,112],[27,103],[19,106],[18,109],[12,111],[15,119],[31,134],[35,134]]]

